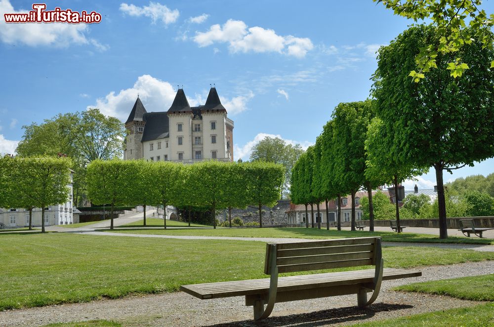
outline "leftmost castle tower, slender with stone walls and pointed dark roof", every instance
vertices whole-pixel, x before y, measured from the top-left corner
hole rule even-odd
[[[132,107],[132,111],[125,122],[127,135],[125,137],[124,160],[143,158],[141,138],[146,124],[144,114],[146,114],[146,109],[137,95],[134,107]]]

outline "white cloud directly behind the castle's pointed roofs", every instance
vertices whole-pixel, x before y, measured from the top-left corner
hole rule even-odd
[[[118,93],[112,91],[105,97],[98,98],[96,104],[87,108],[99,108],[101,113],[107,116],[117,117],[125,121],[139,94],[147,112],[167,111],[173,99],[176,89],[169,82],[159,80],[151,75],[142,75],[130,88],[120,90]],[[228,99],[220,96],[221,103],[228,111],[228,115],[235,115],[247,109],[247,102],[254,97],[249,91],[247,95],[236,96]],[[197,106],[206,102],[205,97],[196,94],[194,98],[187,97],[191,106]]]

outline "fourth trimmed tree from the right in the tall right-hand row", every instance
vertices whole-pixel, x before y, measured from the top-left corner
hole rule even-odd
[[[371,105],[371,100],[340,103],[333,113],[334,174],[352,197],[352,231],[355,230],[355,193],[368,182],[365,177],[365,139]]]

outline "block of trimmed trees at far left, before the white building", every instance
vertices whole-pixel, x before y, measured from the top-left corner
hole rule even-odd
[[[33,209],[41,208],[41,232],[44,233],[44,210],[49,205],[67,202],[70,188],[68,158],[0,157],[0,208],[29,210],[32,229]]]

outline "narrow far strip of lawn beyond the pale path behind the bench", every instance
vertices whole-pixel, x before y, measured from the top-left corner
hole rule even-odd
[[[163,222],[163,221],[162,221]],[[142,225],[142,224],[141,224]],[[163,225],[160,225],[162,227]],[[494,244],[493,239],[450,237],[439,239],[437,235],[414,234],[395,232],[368,232],[368,231],[337,231],[334,228],[217,228],[217,229],[140,229],[119,230],[116,233],[153,234],[153,235],[192,235],[192,236],[230,236],[230,237],[271,237],[271,238],[301,238],[301,239],[334,239],[348,237],[381,236],[388,242],[414,242],[414,243],[455,243],[455,244]]]

